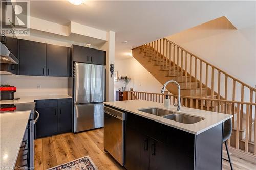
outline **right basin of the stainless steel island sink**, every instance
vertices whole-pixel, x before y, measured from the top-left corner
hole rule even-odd
[[[170,120],[174,120],[176,122],[183,123],[183,124],[194,124],[204,119],[201,117],[189,116],[189,115],[179,114],[179,113],[173,113],[163,117]]]

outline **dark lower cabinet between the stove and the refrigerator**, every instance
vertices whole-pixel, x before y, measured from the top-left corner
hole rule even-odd
[[[36,138],[71,132],[72,99],[37,100]]]

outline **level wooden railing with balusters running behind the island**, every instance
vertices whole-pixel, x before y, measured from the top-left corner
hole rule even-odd
[[[168,96],[170,104],[177,103],[177,95],[168,94]],[[164,94],[129,91],[128,99],[141,99],[163,103]],[[204,105],[205,103],[206,105]],[[189,108],[232,114],[233,132],[231,138],[228,140],[228,145],[243,150],[246,153],[253,153],[256,155],[256,124],[251,124],[253,119],[255,120],[256,118],[256,103],[181,96],[181,104]],[[246,111],[244,112],[241,108],[245,108]],[[254,117],[252,117],[252,111],[255,113]],[[250,124],[253,126],[250,126]],[[242,127],[244,127],[244,130],[241,130],[243,129]]]

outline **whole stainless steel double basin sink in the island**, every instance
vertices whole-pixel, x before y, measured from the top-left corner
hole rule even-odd
[[[146,109],[138,109],[138,110],[148,113],[148,114],[153,114],[156,116],[174,120],[176,122],[180,122],[183,124],[194,124],[194,123],[197,123],[204,119],[201,117],[195,117],[195,116],[190,116],[190,115],[186,115],[186,114],[175,113],[175,112],[172,112],[169,110],[164,110],[164,109],[159,109],[159,108],[146,108]]]

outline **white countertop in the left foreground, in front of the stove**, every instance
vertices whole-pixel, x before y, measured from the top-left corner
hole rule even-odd
[[[30,111],[0,114],[0,169],[13,169]]]

